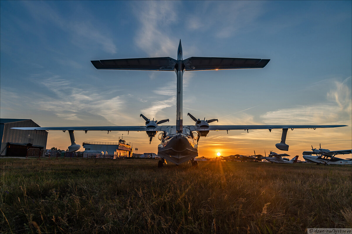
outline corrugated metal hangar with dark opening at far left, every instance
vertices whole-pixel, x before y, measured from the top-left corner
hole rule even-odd
[[[1,156],[26,156],[30,148],[46,148],[47,131],[11,129],[13,127],[40,126],[31,119],[0,119]]]

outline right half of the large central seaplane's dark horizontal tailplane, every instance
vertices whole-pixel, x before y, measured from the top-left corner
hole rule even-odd
[[[183,60],[186,71],[263,68],[270,59],[190,57]]]

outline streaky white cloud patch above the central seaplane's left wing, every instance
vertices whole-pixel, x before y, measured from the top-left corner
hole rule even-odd
[[[36,109],[51,111],[66,120],[81,120],[85,115],[99,115],[111,123],[119,124],[126,97],[124,95],[112,96],[108,91],[102,94],[99,88],[73,87],[69,80],[59,75],[36,74],[32,81],[46,87],[46,93],[38,94],[31,105]]]

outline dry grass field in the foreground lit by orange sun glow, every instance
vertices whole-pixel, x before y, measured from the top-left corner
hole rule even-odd
[[[0,233],[307,233],[347,228],[352,167],[1,159]]]

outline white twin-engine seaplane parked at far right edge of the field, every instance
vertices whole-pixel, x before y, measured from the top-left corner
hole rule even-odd
[[[352,159],[340,159],[335,157],[338,154],[352,154],[352,149],[330,151],[328,149],[322,149],[319,144],[319,149],[312,146],[312,151],[304,151],[303,158],[307,162],[314,162],[317,165],[352,165]],[[313,155],[315,154],[315,156]]]

